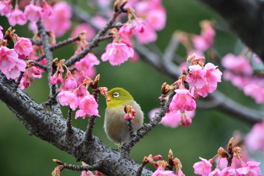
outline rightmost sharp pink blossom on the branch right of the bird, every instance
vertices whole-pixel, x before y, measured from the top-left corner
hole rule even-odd
[[[216,69],[214,64],[207,63],[204,66],[204,70],[206,71],[205,78],[206,78],[206,84],[209,84],[213,87],[217,86],[217,82],[221,82],[221,75],[222,72],[220,72],[219,69]]]

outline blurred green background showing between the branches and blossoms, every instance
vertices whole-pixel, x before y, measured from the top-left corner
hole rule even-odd
[[[85,8],[86,1],[79,0],[82,8]],[[213,10],[192,0],[166,0],[163,5],[167,10],[166,28],[158,32],[158,40],[155,42],[163,51],[175,30],[182,30],[194,34],[200,34],[199,21],[214,18],[217,22],[224,22],[221,17]],[[87,6],[88,8],[88,6]],[[94,10],[93,10],[94,12]],[[6,17],[0,17],[0,25],[7,30],[10,26]],[[73,22],[76,25],[76,22]],[[12,27],[21,37],[31,38],[33,35],[27,29],[27,25]],[[64,37],[57,39],[62,41],[70,35],[69,31]],[[216,32],[215,46],[220,56],[233,52],[237,37],[221,31]],[[109,41],[100,43],[97,51],[103,50]],[[68,59],[74,54],[73,45],[68,45],[54,51],[54,58]],[[95,51],[96,51],[95,50]],[[180,47],[179,55],[185,57],[186,52]],[[98,59],[101,55],[97,55]],[[100,60],[100,59],[99,59]],[[102,62],[96,66],[97,73],[100,73],[100,87],[109,89],[123,87],[131,93],[135,101],[138,102],[145,113],[144,123],[149,122],[148,112],[153,108],[159,107],[158,97],[161,95],[161,85],[164,82],[169,84],[175,82],[171,78],[162,75],[148,64],[139,61],[136,64],[126,61],[120,66],[111,66],[109,62]],[[31,86],[24,91],[36,102],[46,102],[49,96],[49,89],[46,82],[46,74],[42,79],[35,79]],[[218,90],[225,93],[234,100],[249,107],[263,108],[256,105],[254,100],[244,96],[243,92],[238,91],[230,82],[218,83]],[[103,130],[104,111],[106,108],[105,98],[99,96],[99,115],[96,118],[93,134],[99,137],[107,146],[117,149]],[[63,115],[67,118],[68,107],[62,107]],[[16,118],[16,116],[0,102],[0,173],[1,175],[25,175],[25,176],[46,176],[57,166],[52,159],[58,159],[68,164],[81,165],[76,163],[72,155],[65,153],[35,136],[28,136],[28,130]],[[75,112],[73,113],[73,116]],[[73,119],[73,126],[83,131],[86,130],[88,118],[83,120]],[[168,151],[172,149],[174,157],[181,160],[182,170],[185,175],[195,175],[192,168],[195,162],[202,158],[210,159],[220,146],[225,147],[228,140],[232,137],[234,130],[240,130],[246,134],[251,125],[241,122],[234,117],[226,115],[217,110],[196,110],[196,116],[189,127],[179,126],[176,129],[166,128],[158,125],[148,136],[145,136],[131,150],[131,158],[141,163],[144,156],[162,155],[167,160]],[[257,161],[263,161],[261,153],[254,155]],[[262,167],[263,164],[260,166]],[[152,164],[147,165],[151,170],[155,170]],[[263,167],[262,167],[263,168]],[[63,170],[62,176],[79,176],[80,172]]]

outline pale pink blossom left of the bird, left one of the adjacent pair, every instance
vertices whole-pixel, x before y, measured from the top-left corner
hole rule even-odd
[[[58,94],[59,102],[62,106],[70,106],[72,110],[74,111],[79,106],[79,100],[77,98],[77,95],[74,94],[72,91],[65,91],[60,92]]]

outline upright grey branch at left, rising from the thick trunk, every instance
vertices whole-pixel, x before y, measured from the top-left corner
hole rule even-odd
[[[51,76],[54,74],[52,69],[51,69],[51,64],[52,64],[52,61],[53,61],[53,54],[52,52],[50,51],[50,44],[49,44],[49,39],[48,39],[48,34],[46,33],[45,31],[45,28],[44,28],[44,25],[41,21],[41,19],[39,21],[37,21],[37,29],[39,31],[39,35],[41,37],[41,41],[43,43],[43,51],[45,53],[45,57],[46,57],[46,64],[47,64],[47,69],[46,69],[46,72],[48,73],[48,77],[47,77],[47,80],[48,80],[48,85],[49,85],[49,88],[50,88],[50,94],[51,94],[51,98],[52,98],[52,101],[51,101],[51,109],[54,111],[54,112],[57,112],[57,113],[62,113],[61,110],[60,110],[60,104],[58,102],[58,97],[55,97],[55,93],[58,91],[58,85],[52,85],[50,83],[50,78]]]

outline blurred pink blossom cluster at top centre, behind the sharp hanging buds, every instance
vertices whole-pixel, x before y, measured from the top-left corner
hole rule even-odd
[[[166,10],[161,0],[130,0],[125,7],[136,10],[135,22],[145,24],[145,32],[135,33],[136,40],[141,44],[148,44],[157,40],[156,31],[161,31],[166,25]],[[135,29],[136,30],[136,29]]]

